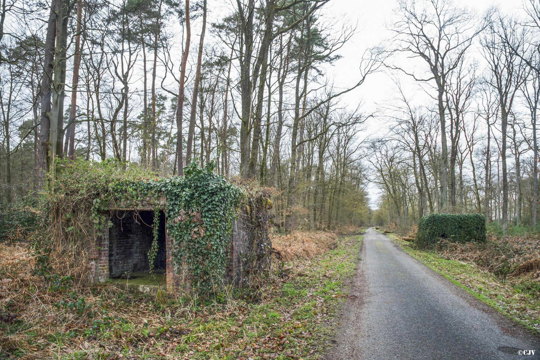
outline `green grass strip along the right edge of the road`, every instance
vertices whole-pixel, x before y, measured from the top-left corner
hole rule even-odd
[[[474,264],[443,259],[433,251],[419,250],[396,234],[385,234],[401,248],[458,287],[465,289],[478,300],[497,309],[505,316],[540,335],[540,300],[538,296],[521,291],[509,281],[477,268]]]

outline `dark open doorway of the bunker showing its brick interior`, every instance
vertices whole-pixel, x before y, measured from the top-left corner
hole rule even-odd
[[[114,212],[109,229],[109,276],[119,277],[127,271],[148,271],[148,252],[152,246],[152,210]],[[165,269],[165,214],[159,214],[158,253],[154,268]]]

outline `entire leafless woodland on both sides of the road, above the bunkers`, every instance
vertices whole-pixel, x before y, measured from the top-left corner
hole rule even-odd
[[[536,227],[540,1],[512,16],[399,1],[393,36],[358,49],[348,87],[327,69],[361,30],[323,16],[332,2],[223,3],[4,1],[2,206],[51,186],[58,158],[160,176],[214,161],[274,188],[285,230],[408,227],[434,212]],[[346,104],[375,72],[395,79],[392,99],[375,113]],[[366,136],[374,119],[384,137]]]

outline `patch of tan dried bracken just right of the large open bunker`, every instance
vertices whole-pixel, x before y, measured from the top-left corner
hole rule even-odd
[[[298,232],[287,235],[270,236],[272,248],[284,261],[295,259],[311,259],[327,252],[335,246],[338,235],[335,233],[316,231]]]

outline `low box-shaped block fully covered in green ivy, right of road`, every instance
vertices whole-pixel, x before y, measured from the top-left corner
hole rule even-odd
[[[446,239],[450,242],[485,242],[485,218],[482,214],[431,214],[418,222],[416,244],[432,247]]]

